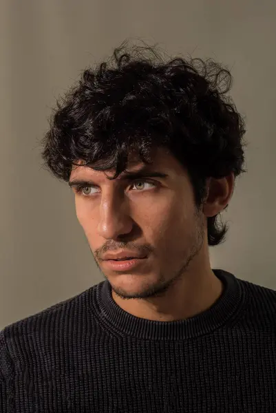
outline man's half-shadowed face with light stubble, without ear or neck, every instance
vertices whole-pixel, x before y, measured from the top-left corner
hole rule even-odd
[[[114,171],[84,166],[75,167],[70,176],[70,181],[89,182],[81,193],[73,187],[76,215],[96,264],[122,298],[164,293],[200,256],[204,244],[204,218],[195,208],[187,171],[171,154],[158,149],[154,162],[146,165],[146,178],[123,178],[141,167],[145,164],[130,162],[116,180],[107,179]],[[155,172],[167,176],[151,177]],[[128,271],[114,271],[103,257],[122,250],[147,258]]]

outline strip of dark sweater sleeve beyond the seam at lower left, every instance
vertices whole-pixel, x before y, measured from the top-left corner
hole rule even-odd
[[[14,400],[13,363],[6,344],[4,330],[0,331],[0,412],[12,412]]]

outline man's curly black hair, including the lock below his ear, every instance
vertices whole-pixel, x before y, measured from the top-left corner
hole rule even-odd
[[[164,147],[187,169],[199,208],[206,178],[245,172],[244,120],[227,96],[232,81],[213,59],[165,60],[156,46],[127,50],[124,42],[57,102],[42,140],[43,166],[68,181],[81,161],[114,169],[115,179],[130,153],[150,163],[151,149]],[[209,246],[228,231],[218,215],[207,219]]]

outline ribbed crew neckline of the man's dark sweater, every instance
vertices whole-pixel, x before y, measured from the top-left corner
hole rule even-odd
[[[222,280],[223,290],[215,303],[204,312],[189,319],[153,321],[142,319],[120,308],[112,297],[112,287],[106,279],[94,290],[92,305],[105,327],[120,335],[149,340],[182,340],[199,337],[220,328],[237,315],[244,304],[244,288],[233,274],[214,269]]]

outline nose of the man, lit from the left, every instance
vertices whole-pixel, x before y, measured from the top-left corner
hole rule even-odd
[[[100,202],[98,235],[106,240],[116,239],[131,232],[133,220],[129,215],[129,205],[123,197],[108,194]]]

